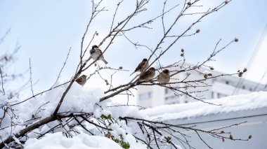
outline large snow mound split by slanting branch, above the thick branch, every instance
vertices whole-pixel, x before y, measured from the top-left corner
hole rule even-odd
[[[57,87],[51,91],[44,93],[41,96],[37,96],[35,99],[30,99],[25,101],[22,104],[13,106],[18,113],[16,113],[19,118],[23,121],[30,120],[32,115],[38,112],[38,109],[41,110],[36,117],[48,117],[55,111],[56,106],[60,97],[63,95],[63,92],[66,90],[68,84],[61,87]],[[80,112],[84,111],[87,113],[94,111],[95,104],[99,101],[99,97],[103,96],[103,91],[100,89],[84,89],[81,85],[76,82],[73,83],[70,91],[67,92],[67,95],[59,109],[60,112]],[[10,100],[20,101],[17,98]]]

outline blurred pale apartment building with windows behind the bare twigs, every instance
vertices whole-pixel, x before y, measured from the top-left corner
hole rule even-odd
[[[190,66],[186,64],[186,66]],[[171,70],[170,70],[171,71]],[[178,75],[172,77],[172,79],[181,79],[186,78],[190,73],[188,80],[197,80],[202,79],[202,73],[212,73],[213,76],[218,76],[223,73],[219,71],[211,71],[210,69],[200,68],[197,71],[190,71],[187,73],[178,73]],[[157,74],[156,74],[157,76]],[[241,82],[241,83],[240,83]],[[234,94],[248,94],[250,92],[256,92],[265,90],[265,86],[259,83],[252,82],[250,80],[242,79],[237,76],[221,76],[218,78],[211,78],[205,81],[209,87],[197,87],[197,88],[187,88],[184,84],[175,87],[184,87],[181,88],[184,92],[192,92],[197,90],[207,90],[205,92],[195,93],[194,95],[203,100],[207,99],[217,99],[221,97],[228,97]],[[137,90],[137,105],[143,106],[145,108],[161,106],[164,104],[180,104],[196,101],[188,95],[177,95],[174,94],[172,90],[169,90],[165,87],[160,87],[158,85],[139,85]]]

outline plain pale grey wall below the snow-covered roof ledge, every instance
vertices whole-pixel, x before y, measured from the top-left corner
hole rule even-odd
[[[247,121],[247,122],[246,122]],[[215,129],[219,127],[225,127],[228,125],[237,124],[240,122],[246,122],[245,124],[223,129],[225,132],[232,132],[234,138],[247,139],[251,134],[252,139],[249,141],[230,141],[226,140],[222,142],[221,139],[216,139],[207,134],[202,134],[202,139],[206,141],[211,148],[223,148],[223,149],[266,149],[267,148],[267,108],[259,108],[249,111],[238,111],[231,113],[219,113],[216,115],[201,116],[199,118],[190,118],[183,120],[171,120],[169,121],[174,125],[193,126],[201,129]],[[208,148],[195,134],[194,132],[185,132],[188,136],[190,145],[196,148]],[[175,134],[179,136],[178,134]],[[181,136],[180,136],[181,137]],[[176,141],[178,145],[181,143]],[[188,148],[188,147],[187,147]]]

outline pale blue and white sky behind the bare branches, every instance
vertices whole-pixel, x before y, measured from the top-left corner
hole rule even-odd
[[[119,9],[117,20],[128,15],[133,10],[134,3],[124,1],[124,6]],[[148,11],[141,17],[136,17],[134,23],[141,22],[145,18],[152,18],[159,15],[162,11],[164,1],[150,1]],[[174,1],[169,0],[167,8],[171,8]],[[203,1],[203,10],[210,6],[215,6],[221,1]],[[104,0],[103,6],[108,11],[101,13],[92,26],[89,28],[89,35],[95,31],[99,36],[94,41],[98,45],[99,41],[107,34],[110,29],[112,13],[114,12],[117,1]],[[226,50],[219,53],[216,62],[210,63],[217,71],[223,73],[233,73],[237,69],[247,66],[250,57],[253,55],[259,39],[267,23],[267,1],[266,0],[233,0],[228,6],[206,17],[202,22],[193,27],[200,29],[200,34],[196,36],[183,38],[174,45],[167,55],[162,57],[161,62],[167,65],[179,59],[180,49],[185,49],[187,62],[196,64],[206,59],[212,52],[215,44],[222,38],[221,46],[239,38],[238,43],[230,45]],[[196,8],[200,9],[200,8]],[[165,22],[173,22],[172,15],[177,12],[174,10],[165,17]],[[193,10],[195,11],[195,10]],[[0,0],[0,36],[11,28],[10,33],[4,43],[0,45],[1,52],[13,50],[15,43],[21,45],[18,52],[18,61],[13,66],[13,71],[21,72],[29,68],[29,58],[32,60],[32,78],[38,83],[34,85],[34,92],[47,89],[53,85],[57,74],[65,61],[65,57],[70,47],[70,57],[67,59],[67,65],[60,76],[60,82],[69,80],[74,75],[74,70],[79,63],[79,48],[82,35],[91,15],[91,1],[80,0]],[[179,27],[183,28],[196,17],[185,17],[178,22]],[[115,20],[116,21],[116,20]],[[160,20],[159,20],[160,21]],[[149,45],[155,48],[155,43],[162,36],[162,26],[159,22],[152,24],[153,29],[131,31],[127,36],[133,41]],[[87,41],[90,39],[87,37]],[[112,50],[105,52],[105,59],[109,62],[108,66],[118,68],[123,66],[130,72],[116,73],[115,80],[117,84],[126,83],[131,78],[129,74],[135,69],[136,65],[144,57],[148,57],[150,52],[145,49],[134,48],[133,45],[120,37],[110,47]],[[178,51],[178,52],[177,52]],[[245,78],[250,80],[261,80],[264,72],[267,70],[267,36],[263,35],[263,42],[259,45],[252,65]],[[102,66],[104,65],[100,62]],[[89,72],[87,72],[89,73]],[[29,73],[25,78],[29,78]],[[104,75],[105,76],[105,75]],[[106,75],[108,77],[108,75]],[[267,83],[267,76],[262,83]],[[103,87],[105,82],[94,78],[86,87]],[[104,87],[104,90],[106,87]]]

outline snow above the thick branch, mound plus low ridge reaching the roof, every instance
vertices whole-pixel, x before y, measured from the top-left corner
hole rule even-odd
[[[18,115],[20,120],[26,121],[30,120],[34,115],[35,118],[38,117],[48,117],[53,114],[58,106],[58,101],[62,97],[63,92],[67,89],[69,84],[57,87],[51,91],[44,93],[35,99],[30,99],[13,106],[15,115]],[[99,103],[100,97],[103,97],[103,90],[96,88],[84,88],[76,82],[73,83],[69,92],[65,96],[63,104],[60,106],[58,113],[62,112],[84,112],[84,113],[94,113],[97,118],[100,118],[101,114],[108,115],[111,114],[112,118],[119,118],[119,116],[137,116],[138,108],[129,106],[117,106],[118,103],[112,102],[110,99]],[[4,101],[4,100],[3,100]],[[20,101],[17,98],[11,99],[10,103],[16,103]],[[98,104],[99,106],[96,106]],[[100,107],[101,106],[101,107]],[[105,110],[103,108],[107,107]],[[142,117],[142,115],[138,115]]]

